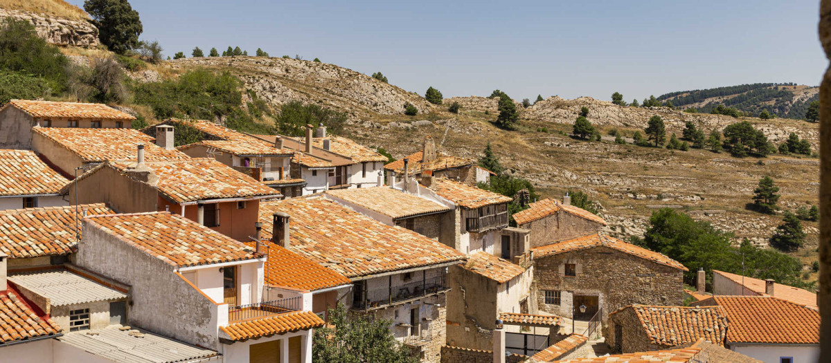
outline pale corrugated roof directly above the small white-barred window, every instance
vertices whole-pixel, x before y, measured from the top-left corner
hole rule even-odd
[[[127,298],[125,293],[62,269],[16,274],[8,280],[49,298],[52,306]]]

